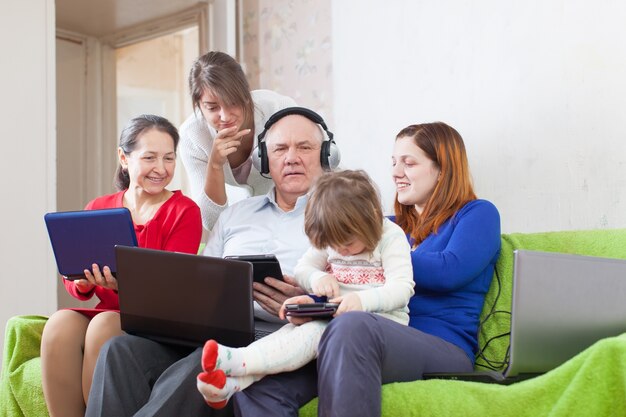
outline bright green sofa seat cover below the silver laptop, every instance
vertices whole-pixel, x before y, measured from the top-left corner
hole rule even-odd
[[[602,339],[542,376],[512,385],[431,379],[387,384],[381,417],[626,415],[626,334]],[[317,399],[300,417],[317,416]]]

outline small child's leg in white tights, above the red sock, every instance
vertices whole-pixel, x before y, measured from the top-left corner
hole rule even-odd
[[[276,332],[241,348],[246,362],[246,375],[278,374],[303,367],[317,358],[317,347],[327,325],[326,320],[313,320],[300,326],[286,324]]]

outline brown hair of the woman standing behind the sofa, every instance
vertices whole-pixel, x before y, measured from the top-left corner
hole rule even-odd
[[[204,90],[211,91],[227,106],[243,108],[244,117],[254,120],[250,84],[241,65],[230,55],[211,51],[193,62],[189,71],[189,93],[195,109],[200,108]]]

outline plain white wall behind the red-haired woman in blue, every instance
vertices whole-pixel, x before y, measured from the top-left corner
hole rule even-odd
[[[626,3],[333,1],[335,133],[389,209],[395,134],[444,121],[504,232],[626,227]]]

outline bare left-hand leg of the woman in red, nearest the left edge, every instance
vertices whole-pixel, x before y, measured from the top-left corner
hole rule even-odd
[[[51,417],[84,416],[83,347],[89,319],[59,310],[48,319],[41,337],[43,392]]]

